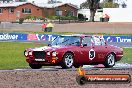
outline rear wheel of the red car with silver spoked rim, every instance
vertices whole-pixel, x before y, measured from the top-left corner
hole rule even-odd
[[[109,55],[106,57],[104,66],[105,66],[106,68],[110,68],[110,67],[113,67],[114,65],[115,65],[115,55],[111,53],[111,54],[109,54]]]

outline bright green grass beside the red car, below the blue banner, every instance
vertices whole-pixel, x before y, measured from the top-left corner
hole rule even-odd
[[[44,46],[43,43],[0,42],[0,69],[29,68],[25,61],[24,50]],[[124,48],[124,57],[120,62],[132,63],[132,48]]]

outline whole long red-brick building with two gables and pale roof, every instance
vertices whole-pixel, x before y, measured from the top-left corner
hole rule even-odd
[[[77,16],[78,8],[69,3],[35,4],[29,2],[0,3],[0,21],[16,21],[26,16]]]

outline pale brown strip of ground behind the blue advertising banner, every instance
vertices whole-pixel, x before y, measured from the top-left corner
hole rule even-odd
[[[42,32],[42,23],[9,23],[0,24],[2,32]],[[105,34],[132,34],[132,22],[85,22],[85,23],[54,23],[53,32],[76,33],[105,33]]]

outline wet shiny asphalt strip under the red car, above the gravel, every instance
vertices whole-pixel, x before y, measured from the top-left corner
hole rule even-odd
[[[102,64],[99,65],[84,65],[83,68],[87,70],[132,70],[132,64],[116,63],[112,68],[105,68]],[[13,69],[13,70],[0,70],[0,72],[25,72],[25,71],[77,71],[77,68],[62,69],[60,66],[50,66],[41,69]]]

